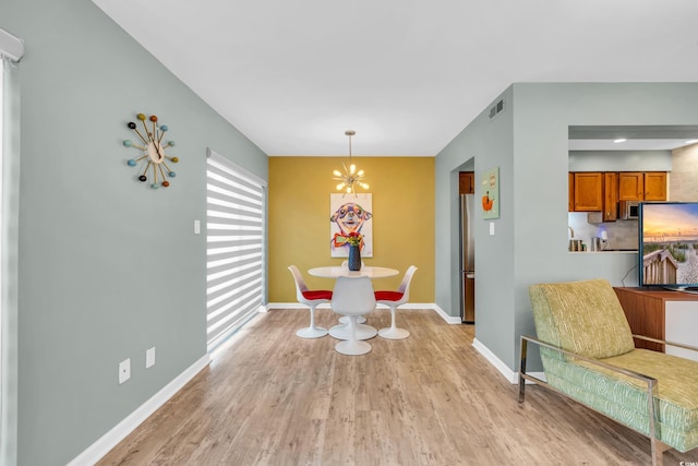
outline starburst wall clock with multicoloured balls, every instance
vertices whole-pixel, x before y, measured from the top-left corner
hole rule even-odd
[[[167,188],[170,186],[168,178],[174,178],[177,174],[167,165],[167,160],[172,164],[177,164],[179,158],[170,157],[165,154],[165,150],[174,146],[174,141],[167,141],[163,143],[163,136],[167,132],[166,124],[157,126],[157,117],[151,115],[146,117],[144,113],[136,115],[136,118],[141,121],[142,130],[133,121],[129,121],[128,127],[139,136],[139,140],[143,142],[143,145],[136,144],[131,140],[124,140],[123,145],[127,147],[134,147],[143,152],[137,158],[130,158],[128,164],[130,167],[136,167],[139,164],[143,166],[143,171],[139,176],[139,180],[142,182],[148,181],[151,177],[151,188],[158,189],[160,186]],[[151,128],[145,120],[149,120]]]

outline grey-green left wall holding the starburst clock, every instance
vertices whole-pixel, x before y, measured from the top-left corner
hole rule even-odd
[[[265,180],[267,157],[91,1],[3,0],[0,22],[26,45],[16,459],[63,465],[205,356],[206,147]],[[168,189],[125,165],[137,112],[177,143]]]

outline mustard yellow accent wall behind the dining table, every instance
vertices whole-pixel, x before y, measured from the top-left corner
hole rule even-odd
[[[334,283],[308,270],[339,265],[329,251],[329,194],[336,192],[335,169],[348,157],[269,157],[268,299],[296,302],[288,266],[296,264],[310,288]],[[418,268],[411,302],[434,299],[434,157],[352,157],[373,194],[373,258],[366,265],[397,268],[399,275],[374,280],[376,289],[395,289],[410,265]],[[360,190],[363,192],[363,190]]]

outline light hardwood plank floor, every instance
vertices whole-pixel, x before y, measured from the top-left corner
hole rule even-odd
[[[318,324],[336,315],[318,310]],[[342,356],[302,339],[308,311],[273,310],[99,465],[646,465],[649,441],[540,386],[518,404],[471,325],[398,311],[411,336]],[[389,323],[377,310],[369,323]],[[669,451],[664,465],[698,462]]]

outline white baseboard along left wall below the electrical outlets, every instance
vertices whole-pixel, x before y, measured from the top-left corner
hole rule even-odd
[[[147,402],[131,413],[125,419],[115,426],[109,432],[101,435],[99,440],[88,446],[80,455],[68,464],[68,466],[94,465],[101,459],[111,449],[127,438],[145,419],[179,392],[190,380],[210,362],[208,354],[202,356],[196,362],[191,365],[181,374],[176,377],[170,383],[165,385],[159,392],[153,395]]]

